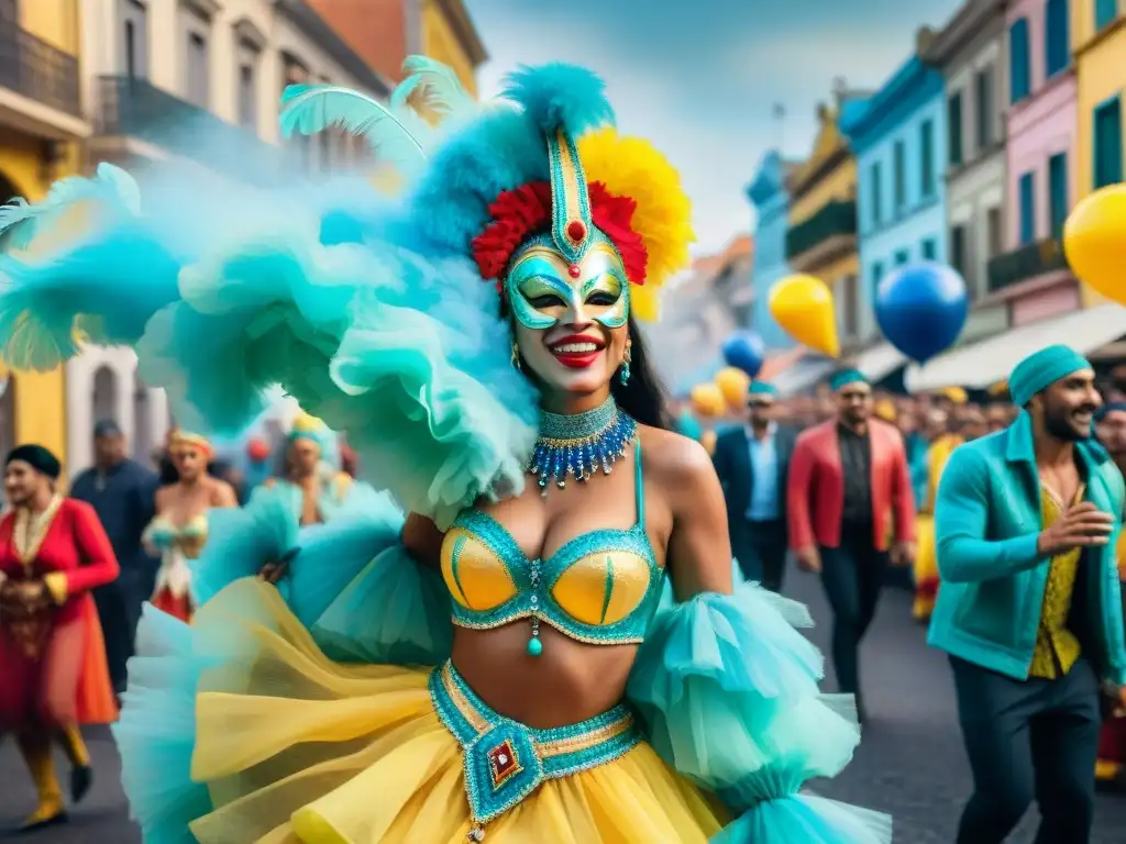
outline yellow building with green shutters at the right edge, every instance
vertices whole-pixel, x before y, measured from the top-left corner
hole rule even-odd
[[[1091,0],[1071,5],[1079,134],[1075,137],[1076,197],[1123,181],[1126,146],[1121,99],[1126,89],[1126,2]],[[1105,302],[1082,286],[1083,305]]]

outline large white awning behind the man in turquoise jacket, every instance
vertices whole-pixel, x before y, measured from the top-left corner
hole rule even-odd
[[[912,365],[904,377],[912,393],[942,387],[988,389],[1009,377],[1024,358],[1046,345],[1064,343],[1087,354],[1126,335],[1126,307],[1099,305],[1010,329],[940,354],[926,366]]]

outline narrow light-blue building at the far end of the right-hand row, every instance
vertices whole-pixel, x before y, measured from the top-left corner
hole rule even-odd
[[[790,273],[786,260],[786,232],[789,230],[789,195],[786,181],[795,164],[775,150],[759,162],[754,178],[747,187],[747,197],[757,213],[754,225],[754,263],[751,270],[751,327],[768,349],[788,349],[794,341],[770,315],[770,288]]]

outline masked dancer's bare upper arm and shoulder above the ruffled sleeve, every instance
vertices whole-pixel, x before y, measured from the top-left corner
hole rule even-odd
[[[658,446],[652,463],[672,511],[668,566],[673,594],[686,601],[701,592],[731,594],[731,538],[723,487],[704,447],[670,436]],[[645,452],[646,463],[649,455]]]

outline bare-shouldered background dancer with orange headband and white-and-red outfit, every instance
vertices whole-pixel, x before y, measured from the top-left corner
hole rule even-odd
[[[169,457],[177,481],[157,491],[157,515],[143,541],[160,555],[153,607],[184,621],[194,610],[188,560],[199,556],[207,541],[207,513],[213,508],[235,508],[239,500],[225,481],[212,477],[207,464],[211,442],[200,434],[177,429],[169,438]]]

